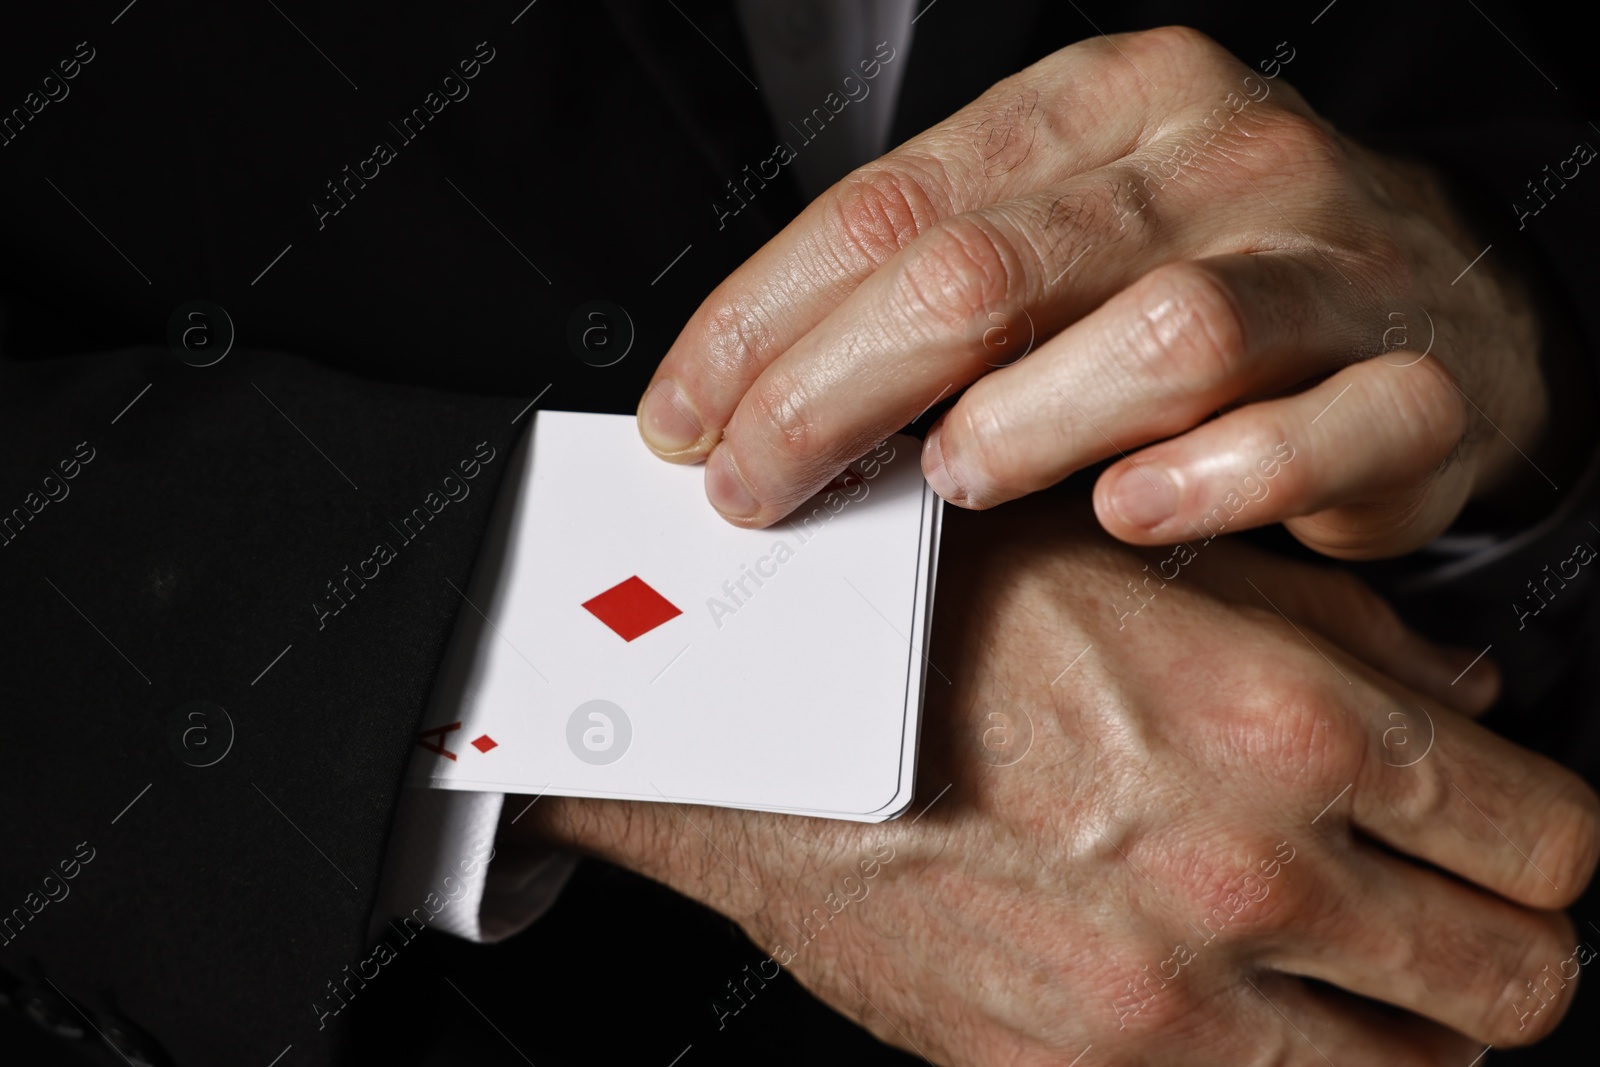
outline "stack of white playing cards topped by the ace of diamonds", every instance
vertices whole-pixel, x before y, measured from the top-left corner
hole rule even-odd
[[[942,501],[891,437],[766,530],[632,416],[517,448],[418,782],[878,822],[910,803]]]

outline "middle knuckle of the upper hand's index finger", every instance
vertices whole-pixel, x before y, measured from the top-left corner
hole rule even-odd
[[[834,254],[854,259],[856,267],[883,266],[946,213],[936,189],[936,181],[904,158],[878,160],[848,174],[827,202],[842,245]]]

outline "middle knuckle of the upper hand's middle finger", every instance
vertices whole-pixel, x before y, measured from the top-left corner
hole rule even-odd
[[[976,216],[957,216],[912,245],[899,272],[909,298],[901,306],[910,323],[971,333],[971,323],[1019,294],[1021,275],[1021,256],[1006,237]]]

